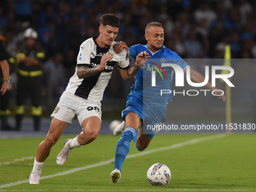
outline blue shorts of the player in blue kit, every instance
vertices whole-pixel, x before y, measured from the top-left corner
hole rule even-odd
[[[142,119],[143,133],[148,137],[153,138],[157,134],[157,125],[166,121],[166,106],[161,108],[153,108],[143,103],[130,94],[126,102],[126,108],[122,111],[123,120],[125,121],[126,114],[134,112]]]

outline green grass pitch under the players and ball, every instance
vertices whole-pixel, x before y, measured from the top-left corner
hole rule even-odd
[[[132,142],[130,154],[135,155],[125,160],[118,184],[110,182],[109,174],[120,136],[99,136],[90,145],[75,148],[66,163],[57,166],[56,155],[64,141],[74,137],[62,136],[42,170],[41,177],[50,178],[41,179],[40,184],[24,180],[28,181],[32,157],[44,138],[0,139],[0,191],[256,191],[255,135],[212,136],[157,135],[145,150],[148,154],[141,156],[137,154],[144,152]],[[164,187],[151,186],[146,177],[148,167],[158,162],[172,172]],[[69,172],[75,168],[76,172]],[[59,172],[65,174],[54,176]]]

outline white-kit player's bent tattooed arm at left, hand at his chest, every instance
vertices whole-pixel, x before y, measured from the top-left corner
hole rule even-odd
[[[89,68],[89,66],[78,66],[77,75],[78,78],[88,78],[92,75],[95,75],[98,72],[102,72],[107,66],[107,62],[112,59],[112,56],[104,54],[100,60],[99,66]]]

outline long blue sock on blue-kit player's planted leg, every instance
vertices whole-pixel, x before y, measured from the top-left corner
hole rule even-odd
[[[123,136],[121,136],[121,138],[117,142],[114,159],[114,169],[119,169],[120,172],[123,161],[125,160],[127,154],[130,151],[130,142],[133,140],[135,133],[136,130],[133,129],[133,127],[127,127],[123,132]]]

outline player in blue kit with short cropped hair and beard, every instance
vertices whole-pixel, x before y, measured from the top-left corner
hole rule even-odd
[[[136,59],[136,56],[139,53],[146,51],[149,53],[149,56],[151,56],[151,59],[166,59],[169,62],[180,66],[181,69],[183,69],[183,72],[185,74],[187,73],[187,63],[184,62],[177,53],[169,50],[163,45],[164,31],[161,23],[148,23],[145,28],[145,39],[148,44],[136,44],[129,48],[130,58]],[[117,44],[115,51],[118,53],[123,48],[128,50],[126,44],[121,42]],[[111,182],[113,183],[117,183],[120,179],[123,161],[130,151],[130,142],[133,140],[136,148],[139,151],[144,151],[153,139],[155,133],[147,132],[143,126],[145,126],[145,124],[155,125],[157,123],[164,123],[166,120],[166,103],[172,100],[172,94],[168,94],[168,96],[166,94],[162,99],[160,99],[159,96],[156,97],[156,94],[159,95],[159,92],[156,93],[155,87],[151,86],[151,78],[149,78],[151,76],[148,75],[151,75],[150,68],[157,66],[154,64],[156,63],[148,60],[144,66],[139,69],[139,72],[135,77],[135,84],[131,87],[131,92],[128,96],[128,101],[126,102],[126,109],[122,111],[123,123],[117,126],[114,130],[115,136],[120,133],[123,133],[123,135],[117,142],[114,171],[111,172]],[[149,70],[146,65],[150,67]],[[168,87],[169,90],[171,90],[172,79],[174,76],[173,72],[167,72],[168,70],[172,69],[166,68],[165,70],[167,76],[169,76],[168,80],[166,78],[165,81],[161,81],[161,84],[163,87]],[[148,75],[147,78],[145,78],[145,75]],[[190,79],[197,83],[205,80],[203,75],[193,69],[190,69]],[[210,82],[207,82],[206,87],[212,91],[215,90],[215,95],[218,95],[220,99],[225,101],[223,92],[218,90],[217,87],[212,87]]]

